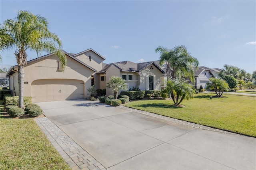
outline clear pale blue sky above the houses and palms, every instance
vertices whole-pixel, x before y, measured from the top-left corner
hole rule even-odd
[[[18,10],[47,18],[65,51],[92,48],[105,63],[154,61],[159,45],[184,44],[200,66],[256,70],[256,1],[0,0],[0,23]],[[14,51],[1,53],[1,68],[16,65]]]

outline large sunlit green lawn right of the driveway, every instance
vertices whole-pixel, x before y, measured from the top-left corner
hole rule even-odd
[[[223,98],[195,94],[182,101],[186,107],[171,107],[172,100],[141,100],[126,107],[148,111],[175,119],[256,137],[256,97],[226,95]]]

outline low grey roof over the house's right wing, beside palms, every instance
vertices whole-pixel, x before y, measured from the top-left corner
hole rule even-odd
[[[105,73],[106,70],[111,65],[114,65],[115,67],[120,69],[120,71],[123,71],[123,72],[140,72],[143,69],[145,69],[146,67],[148,67],[148,65],[150,65],[150,64],[154,65],[162,73],[165,73],[156,63],[154,63],[154,61],[149,61],[149,62],[144,62],[144,63],[134,63],[132,61],[120,61],[117,63],[107,64],[102,70],[98,71],[97,74]]]

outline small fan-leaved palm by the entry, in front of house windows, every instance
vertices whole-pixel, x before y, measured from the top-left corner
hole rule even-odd
[[[120,90],[128,90],[127,83],[125,83],[125,80],[122,79],[122,77],[112,76],[109,79],[109,82],[107,83],[106,87],[113,88],[113,93],[115,99],[118,97],[118,91]]]

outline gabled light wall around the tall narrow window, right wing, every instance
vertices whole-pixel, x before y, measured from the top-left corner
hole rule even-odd
[[[154,69],[150,69],[150,67],[153,67]],[[149,76],[154,76],[154,90],[160,90],[161,89],[161,71],[159,71],[154,65],[149,65],[144,70],[139,72],[140,75],[140,90],[149,90]]]

